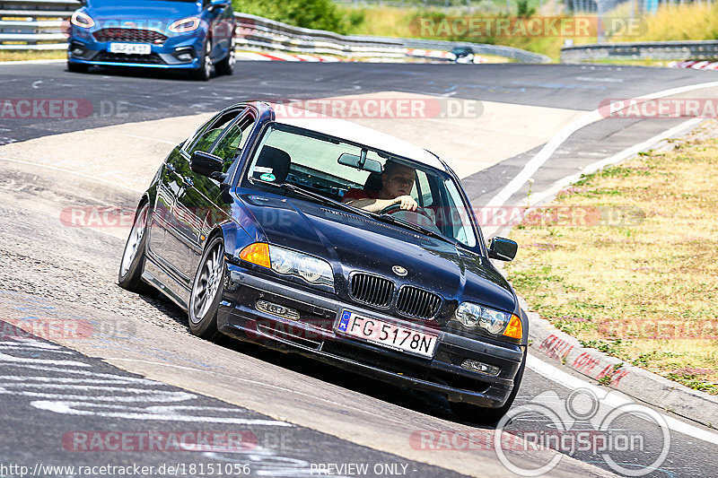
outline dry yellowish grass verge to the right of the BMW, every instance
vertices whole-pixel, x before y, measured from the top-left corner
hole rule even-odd
[[[530,307],[585,346],[714,395],[716,134],[714,120],[582,178],[512,230],[507,266]]]

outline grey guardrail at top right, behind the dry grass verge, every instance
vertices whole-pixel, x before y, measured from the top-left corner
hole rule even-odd
[[[591,43],[561,48],[565,63],[606,59],[712,60],[718,58],[718,41],[644,41]]]

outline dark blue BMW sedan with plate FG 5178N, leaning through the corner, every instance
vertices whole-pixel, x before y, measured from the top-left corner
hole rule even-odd
[[[119,285],[162,291],[200,337],[300,353],[498,420],[529,324],[489,259],[512,260],[516,243],[485,244],[433,153],[280,107],[224,109],[170,153],[137,207]]]

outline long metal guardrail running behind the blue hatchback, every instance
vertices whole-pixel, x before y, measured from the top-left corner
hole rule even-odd
[[[0,49],[66,49],[63,22],[80,6],[76,0],[0,0]],[[504,56],[521,62],[547,63],[550,58],[519,48],[444,40],[401,39],[339,35],[310,30],[247,13],[235,13],[238,48],[336,55],[346,58],[428,57],[447,61],[445,52],[455,46],[474,48],[477,55]]]

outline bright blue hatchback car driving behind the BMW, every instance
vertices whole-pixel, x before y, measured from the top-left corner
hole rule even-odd
[[[70,20],[67,68],[188,70],[197,80],[234,70],[230,0],[87,0]]]

